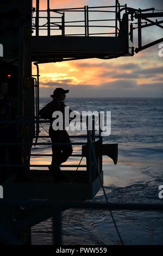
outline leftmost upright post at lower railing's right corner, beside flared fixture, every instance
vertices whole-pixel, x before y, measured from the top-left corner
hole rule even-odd
[[[91,149],[91,136],[89,131],[88,117],[86,117],[86,129],[87,129],[87,152],[86,152],[86,172],[87,182],[92,182],[92,149]]]

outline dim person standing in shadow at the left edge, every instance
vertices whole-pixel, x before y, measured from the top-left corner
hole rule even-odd
[[[0,81],[0,121],[15,120],[15,111],[12,97],[8,94],[8,83]],[[15,124],[0,123],[0,164],[22,164],[20,148],[17,145],[1,145],[1,143],[17,143],[17,131]],[[0,167],[0,182],[16,174],[17,180],[23,173],[18,167]]]

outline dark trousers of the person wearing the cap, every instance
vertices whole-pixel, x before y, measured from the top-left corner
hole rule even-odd
[[[52,143],[71,143],[67,131],[54,131],[52,127],[49,129],[49,136]],[[72,155],[72,145],[52,145],[52,164],[61,164],[67,161]]]

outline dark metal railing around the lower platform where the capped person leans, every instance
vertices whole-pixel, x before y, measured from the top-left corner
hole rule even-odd
[[[52,142],[33,142],[31,143],[30,138],[27,139],[27,141],[24,142],[0,142],[0,147],[33,147],[33,146],[43,146],[43,145],[47,145],[47,146],[52,146],[52,145],[86,145],[87,144],[87,154],[86,154],[86,164],[62,164],[60,165],[60,167],[64,168],[64,167],[78,167],[78,168],[85,168],[85,172],[87,174],[87,182],[90,184],[95,178],[96,178],[96,166],[95,166],[95,162],[93,161],[93,156],[92,156],[92,149],[91,149],[91,144],[93,144],[93,148],[95,149],[95,140],[96,138],[99,139],[99,141],[102,142],[102,136],[101,136],[101,128],[100,128],[100,115],[99,115],[99,134],[95,135],[95,117],[92,118],[92,131],[91,131],[91,138],[89,137],[89,130],[88,130],[88,117],[86,118],[86,135],[81,135],[81,136],[70,136],[72,138],[85,138],[86,142],[71,142],[71,143],[64,143],[64,142],[56,142],[56,143],[52,143]],[[22,118],[22,120],[9,120],[9,121],[0,121],[0,125],[1,124],[30,124],[33,123],[33,120],[30,120],[29,118]],[[40,124],[40,123],[50,123],[50,121],[46,121],[46,120],[38,120],[38,118],[36,118],[35,120],[35,124]],[[37,136],[37,135],[36,135]],[[35,136],[35,137],[36,137]],[[37,139],[39,139],[40,136],[37,137]],[[41,136],[41,138],[49,138],[49,136]],[[30,157],[34,157],[35,154],[31,154],[31,151],[28,150],[27,151],[28,154],[28,162],[26,163],[0,163],[0,168],[17,168],[17,167],[24,167],[26,169],[26,174],[29,174],[30,168],[33,167],[48,167],[49,164],[30,164]],[[49,156],[46,154],[36,154],[36,156]],[[82,153],[81,154],[72,154],[73,157],[79,157],[79,156],[83,156]],[[83,156],[84,157],[84,156]],[[102,157],[98,156],[98,163],[99,163],[99,168],[100,168],[100,172],[102,172]],[[32,173],[33,171],[31,170],[30,173]],[[47,172],[47,170],[46,170]],[[33,172],[34,173],[34,172]]]

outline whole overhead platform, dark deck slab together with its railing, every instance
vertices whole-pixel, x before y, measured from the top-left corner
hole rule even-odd
[[[49,6],[47,8],[49,10],[47,23],[43,25],[41,25],[43,17],[40,16],[39,5],[34,12],[31,38],[33,62],[133,56],[133,40],[129,39],[129,17],[125,12],[122,19],[118,19],[117,11],[121,9],[118,1],[115,6],[110,7],[55,10],[49,9]],[[83,15],[84,20],[75,20],[74,12]],[[67,13],[69,17],[65,16]],[[103,14],[103,19],[99,19],[100,14]],[[56,17],[56,15],[60,16]],[[72,28],[75,32],[70,34]],[[59,32],[56,32],[57,29]]]

